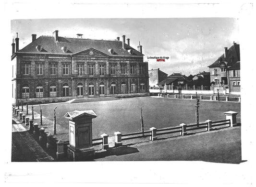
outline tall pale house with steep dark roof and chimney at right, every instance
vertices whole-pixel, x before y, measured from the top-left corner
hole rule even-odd
[[[224,54],[212,65],[208,66],[210,69],[210,82],[214,82],[214,87],[211,87],[211,90],[214,88],[215,91],[219,89],[220,93],[232,92],[227,69],[238,61],[240,61],[240,45],[233,43],[229,49],[224,47]]]

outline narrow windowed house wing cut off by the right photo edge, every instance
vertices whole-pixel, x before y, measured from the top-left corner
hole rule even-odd
[[[228,75],[231,94],[240,94],[240,61],[228,68]]]

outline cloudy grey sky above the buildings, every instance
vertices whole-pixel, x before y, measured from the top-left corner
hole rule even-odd
[[[115,40],[122,35],[130,45],[143,46],[144,55],[170,55],[171,62],[149,63],[148,69],[160,68],[168,75],[189,76],[209,71],[224,52],[224,47],[239,44],[239,25],[235,18],[145,18],[145,19],[27,19],[12,20],[12,37],[20,38],[20,49],[31,43],[31,34]],[[11,41],[12,42],[12,41]],[[11,43],[10,42],[10,43]],[[11,47],[10,47],[11,53]]]

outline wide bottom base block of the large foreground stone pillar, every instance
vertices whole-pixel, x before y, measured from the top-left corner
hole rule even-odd
[[[74,150],[68,147],[69,161],[90,161],[95,158],[95,149],[93,147],[87,147],[79,150]]]

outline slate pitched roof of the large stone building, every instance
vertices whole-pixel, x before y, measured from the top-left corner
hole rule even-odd
[[[37,51],[37,45],[42,46],[42,51]],[[63,52],[61,49],[64,46],[68,49],[67,53]],[[86,49],[93,48],[109,56],[143,57],[143,54],[139,53],[131,46],[125,44],[125,47],[126,50],[123,50],[122,41],[116,40],[94,40],[59,36],[59,41],[56,42],[53,36],[40,36],[34,42],[19,50],[18,53],[73,55]],[[109,49],[113,49],[114,53],[111,54]],[[128,52],[129,49],[133,49],[133,55]]]

